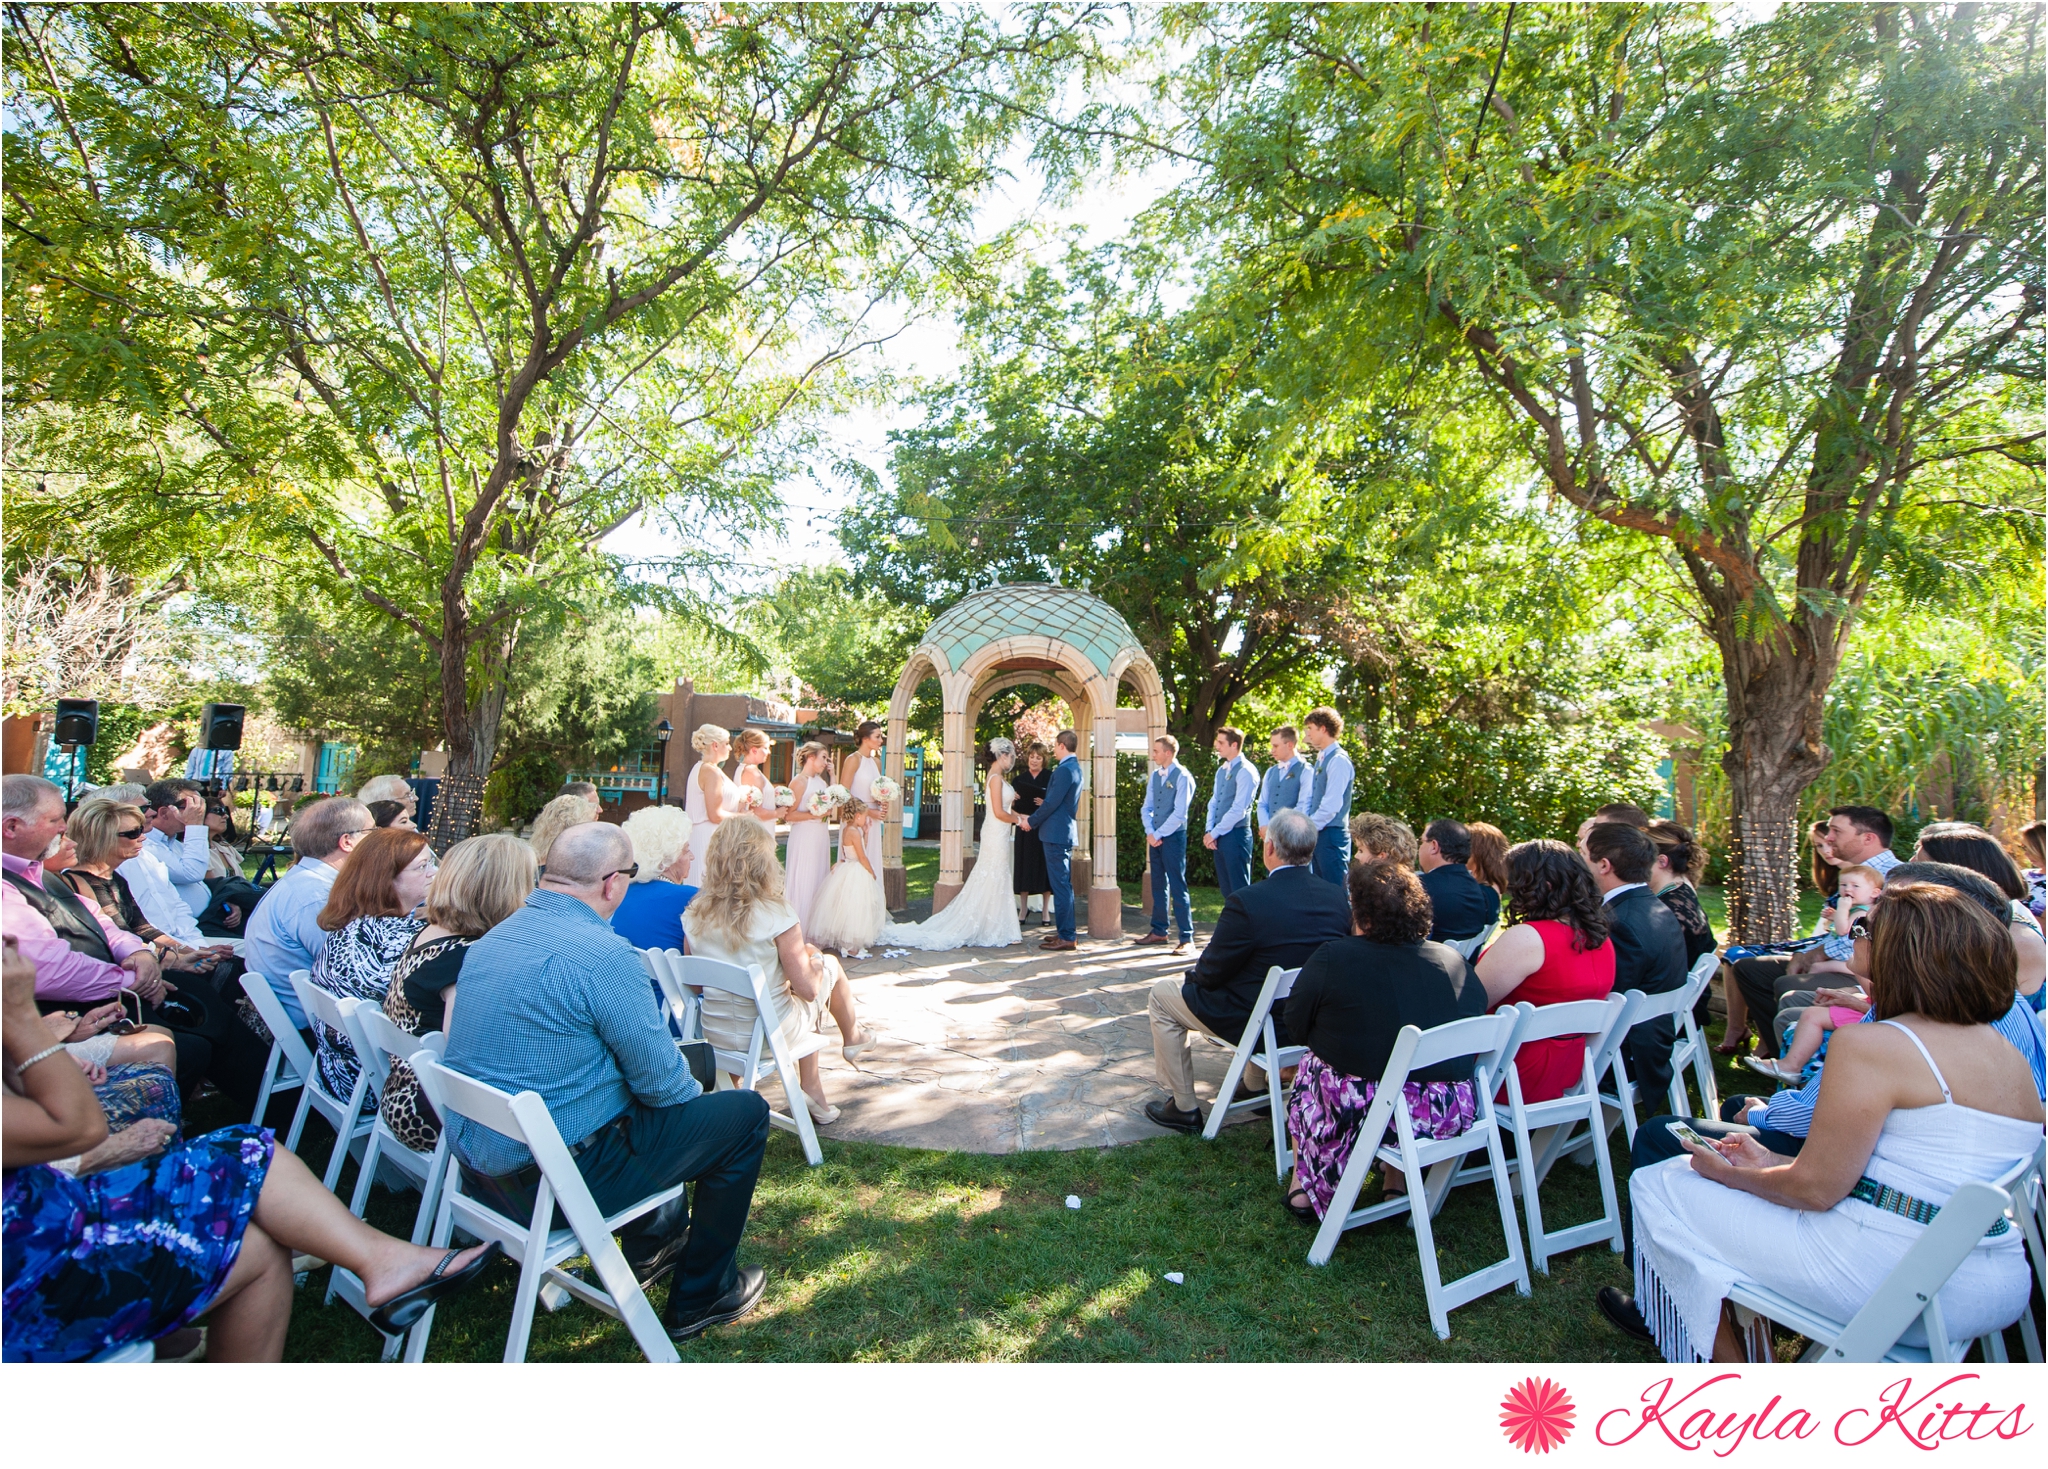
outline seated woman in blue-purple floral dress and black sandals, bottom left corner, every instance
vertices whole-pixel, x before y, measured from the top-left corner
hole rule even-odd
[[[78,1362],[207,1319],[207,1360],[276,1362],[293,1252],[354,1270],[397,1332],[475,1285],[498,1244],[430,1250],[371,1229],[266,1127],[225,1127],[162,1158],[70,1176],[106,1137],[92,1088],[35,1014],[35,965],[4,947],[0,1047],[8,1362]],[[147,1123],[137,1125],[150,1127]]]

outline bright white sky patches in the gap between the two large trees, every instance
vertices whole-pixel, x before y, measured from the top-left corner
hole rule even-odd
[[[1120,238],[1130,221],[1176,182],[1178,170],[1165,168],[1139,174],[1104,172],[1071,199],[1053,201],[1047,197],[1044,180],[1030,168],[1028,160],[1020,160],[1012,168],[1010,186],[991,195],[981,207],[981,234],[993,238],[1016,223],[1028,223],[1038,240],[1032,250],[1036,258],[1063,254],[1069,232],[1075,227],[1085,234],[1085,244],[1108,244]],[[883,334],[887,334],[887,326]],[[958,326],[950,311],[911,320],[885,348],[870,348],[870,352],[887,352],[887,361],[897,373],[913,375],[926,383],[942,381],[961,361]],[[909,391],[905,391],[907,397]],[[913,424],[915,416],[913,408],[897,404],[836,414],[823,424],[817,463],[858,459],[887,479],[889,430]],[[762,582],[772,580],[776,568],[782,565],[819,565],[842,559],[831,524],[850,504],[852,486],[834,475],[817,473],[784,481],[780,494],[786,510],[786,533],[780,545],[768,539],[739,545],[731,535],[711,531],[705,549],[729,555]],[[680,547],[668,527],[637,516],[606,537],[604,549],[635,559],[674,555]]]

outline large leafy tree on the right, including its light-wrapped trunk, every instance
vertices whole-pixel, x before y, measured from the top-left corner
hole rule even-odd
[[[1518,428],[1542,494],[1649,537],[1690,588],[1726,695],[1739,936],[1792,922],[1798,797],[1872,586],[1948,557],[2038,574],[2040,23],[1976,4],[1169,20],[1192,164],[1163,215],[1241,262],[1212,305],[1303,432],[1462,385]]]

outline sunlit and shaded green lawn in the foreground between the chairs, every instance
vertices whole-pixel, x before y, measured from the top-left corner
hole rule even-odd
[[[307,1141],[317,1166],[326,1135]],[[1626,1176],[1620,1145],[1616,1170]],[[1591,1168],[1559,1164],[1546,1221],[1589,1219],[1597,1199]],[[414,1205],[379,1188],[371,1221],[406,1233]],[[1456,1190],[1436,1237],[1446,1278],[1505,1254],[1491,1188]],[[764,1362],[1649,1360],[1593,1307],[1597,1287],[1628,1283],[1604,1246],[1552,1260],[1548,1278],[1532,1272],[1534,1299],[1509,1287],[1452,1311],[1438,1342],[1405,1223],[1354,1229],[1321,1270],[1307,1264],[1311,1240],[1280,1207],[1264,1123],[1214,1143],[1001,1158],[827,1143],[823,1168],[774,1133],[739,1252],[768,1270],[762,1307],[680,1350]],[[1186,1283],[1167,1283],[1169,1270]],[[508,1262],[442,1307],[428,1358],[496,1360],[514,1285]],[[299,1291],[287,1358],[375,1358],[377,1334],[346,1305],[322,1307],[324,1287],[315,1272]],[[543,1311],[528,1348],[530,1360],[637,1356],[623,1326],[573,1303]]]

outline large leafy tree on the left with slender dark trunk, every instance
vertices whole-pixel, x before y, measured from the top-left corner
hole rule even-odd
[[[776,426],[874,301],[971,268],[1094,23],[10,6],[8,395],[90,490],[10,514],[303,539],[438,664],[461,836],[522,619],[647,508],[760,522]]]

